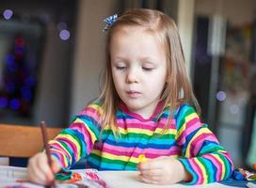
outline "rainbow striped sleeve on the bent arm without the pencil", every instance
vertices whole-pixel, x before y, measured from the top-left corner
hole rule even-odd
[[[207,125],[189,105],[183,105],[175,116],[177,144],[183,148],[179,160],[192,176],[188,184],[205,184],[225,180],[232,175],[229,153],[221,147]]]

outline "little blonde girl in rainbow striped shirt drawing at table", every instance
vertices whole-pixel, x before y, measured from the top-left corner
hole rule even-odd
[[[194,109],[174,22],[157,10],[133,9],[107,23],[102,94],[50,141],[51,167],[44,153],[29,160],[29,179],[48,184],[82,158],[98,170],[137,169],[153,184],[229,178],[230,155]]]

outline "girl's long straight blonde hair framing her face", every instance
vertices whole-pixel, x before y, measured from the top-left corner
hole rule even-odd
[[[103,108],[103,114],[101,114],[103,125],[109,126],[115,136],[120,135],[115,116],[120,105],[120,97],[113,82],[109,46],[111,39],[115,37],[115,33],[120,28],[126,26],[145,28],[146,31],[151,32],[153,36],[165,45],[168,75],[167,84],[163,89],[160,99],[160,101],[165,101],[160,116],[164,112],[164,109],[169,106],[169,123],[174,109],[183,102],[192,104],[200,113],[200,106],[193,94],[192,86],[185,71],[184,52],[176,24],[166,14],[158,10],[138,8],[126,11],[107,31],[103,90],[99,97]]]

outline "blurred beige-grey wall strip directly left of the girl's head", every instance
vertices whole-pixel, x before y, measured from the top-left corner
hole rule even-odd
[[[99,95],[104,66],[104,18],[118,10],[118,0],[81,0],[72,71],[70,118]]]

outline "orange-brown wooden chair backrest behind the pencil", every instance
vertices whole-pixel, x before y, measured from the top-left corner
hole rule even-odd
[[[47,128],[53,139],[63,128]],[[40,127],[0,124],[0,156],[29,158],[43,149]]]

